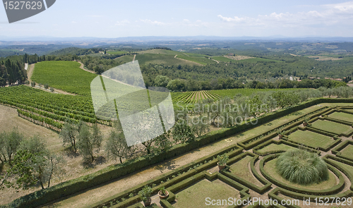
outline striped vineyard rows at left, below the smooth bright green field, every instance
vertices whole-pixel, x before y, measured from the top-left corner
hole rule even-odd
[[[73,123],[97,121],[92,101],[83,96],[51,94],[25,85],[0,88],[0,104],[18,109],[18,116],[59,130],[66,120]]]

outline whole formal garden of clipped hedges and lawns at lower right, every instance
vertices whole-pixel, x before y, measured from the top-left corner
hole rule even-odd
[[[352,110],[311,111],[93,207],[352,207]]]

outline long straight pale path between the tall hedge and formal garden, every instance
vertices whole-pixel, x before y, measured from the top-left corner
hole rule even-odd
[[[111,181],[109,183],[104,183],[95,188],[91,188],[89,190],[85,190],[83,192],[78,192],[76,195],[71,195],[68,198],[63,198],[52,204],[47,204],[44,207],[86,207],[95,202],[99,202],[100,200],[104,200],[107,197],[111,197],[116,193],[127,190],[128,188],[133,188],[134,186],[148,181],[152,178],[162,175],[163,173],[167,173],[174,169],[177,169],[180,166],[185,164],[189,164],[196,159],[201,157],[205,157],[211,152],[215,152],[219,149],[225,148],[229,145],[233,145],[234,143],[240,142],[247,137],[252,135],[257,135],[259,133],[263,133],[266,130],[270,130],[273,126],[280,125],[282,123],[286,123],[289,120],[297,118],[298,114],[305,114],[306,112],[313,111],[315,109],[319,109],[320,106],[311,106],[308,109],[304,109],[302,111],[297,111],[294,114],[290,114],[288,116],[284,116],[274,121],[270,121],[269,123],[265,123],[261,126],[253,128],[251,130],[247,130],[246,132],[239,133],[237,135],[233,135],[232,137],[228,137],[232,140],[232,142],[227,142],[225,140],[220,140],[213,144],[210,144],[205,147],[201,147],[195,149],[191,152],[183,154],[177,158],[170,159],[169,161],[164,161],[160,164],[156,164],[154,166],[150,166],[146,169],[140,170],[135,173],[131,173],[128,176],[124,176],[115,181]],[[227,138],[225,138],[227,139]],[[90,200],[87,200],[90,199]]]

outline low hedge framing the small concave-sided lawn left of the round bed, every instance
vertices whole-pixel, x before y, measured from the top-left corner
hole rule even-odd
[[[248,188],[251,188],[251,190],[255,190],[256,192],[263,194],[264,192],[266,192],[266,190],[268,190],[272,183],[266,181],[264,178],[262,178],[260,176],[260,174],[258,174],[258,172],[255,169],[254,164],[256,163],[256,161],[258,160],[258,155],[253,154],[251,152],[244,152],[242,154],[240,154],[237,157],[234,157],[232,159],[229,159],[229,161],[227,162],[228,165],[232,165],[237,163],[238,161],[240,161],[241,159],[244,159],[246,156],[250,156],[253,157],[253,159],[251,159],[250,161],[250,166],[251,166],[251,172],[253,173],[254,177],[260,181],[260,183],[263,184],[262,187],[259,187],[258,185],[255,185],[249,181],[245,181],[243,178],[240,178],[236,175],[234,175],[233,173],[230,173],[228,171],[220,171],[220,173],[222,173],[223,175],[227,176],[228,178],[231,178],[234,181],[237,181],[238,183],[241,183],[242,185],[245,185]]]

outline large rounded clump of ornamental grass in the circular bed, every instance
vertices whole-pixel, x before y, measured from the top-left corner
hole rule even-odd
[[[328,166],[313,152],[301,149],[287,151],[280,155],[276,163],[281,176],[292,183],[309,185],[328,180]]]

